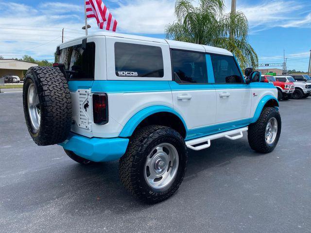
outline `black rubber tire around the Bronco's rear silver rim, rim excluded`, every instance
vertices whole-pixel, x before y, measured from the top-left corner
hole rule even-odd
[[[146,158],[161,143],[170,143],[178,151],[179,166],[174,180],[163,189],[151,187],[144,178]],[[119,163],[120,179],[125,189],[138,200],[156,203],[171,197],[184,179],[188,162],[185,141],[177,131],[169,127],[150,125],[138,129]]]

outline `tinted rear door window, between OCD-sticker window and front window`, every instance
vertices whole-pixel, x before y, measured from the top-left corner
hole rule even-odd
[[[180,83],[208,83],[204,53],[172,50],[172,61],[175,79]]]

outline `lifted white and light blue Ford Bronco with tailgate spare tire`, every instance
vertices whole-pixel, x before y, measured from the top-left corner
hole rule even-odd
[[[58,144],[83,165],[120,159],[125,188],[155,203],[183,181],[187,150],[245,132],[253,150],[275,149],[276,87],[245,76],[224,49],[98,33],[57,47],[53,67],[28,70],[24,114],[36,144]]]

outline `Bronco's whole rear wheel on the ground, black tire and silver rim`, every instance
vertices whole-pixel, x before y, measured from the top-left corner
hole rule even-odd
[[[183,137],[172,128],[139,129],[120,159],[120,179],[139,200],[156,203],[171,197],[184,179],[188,161]]]

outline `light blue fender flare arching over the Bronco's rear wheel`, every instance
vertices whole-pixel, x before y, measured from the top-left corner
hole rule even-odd
[[[136,113],[134,116],[132,116],[123,127],[119,137],[132,136],[132,133],[135,131],[136,127],[139,125],[141,121],[143,121],[148,116],[160,112],[168,112],[174,114],[175,116],[178,116],[178,118],[183,122],[186,132],[188,132],[186,122],[173,108],[164,105],[154,105],[144,108],[140,110],[138,113]]]

